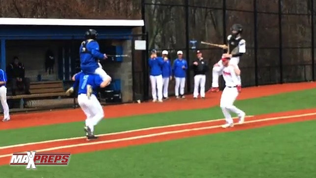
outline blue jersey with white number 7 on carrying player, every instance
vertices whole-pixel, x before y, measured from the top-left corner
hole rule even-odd
[[[87,94],[87,85],[93,89],[93,94],[97,95],[97,90],[103,82],[102,78],[97,74],[84,74],[79,72],[75,76],[75,80],[79,81],[78,94]]]

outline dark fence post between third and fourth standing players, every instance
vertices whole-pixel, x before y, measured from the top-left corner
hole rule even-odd
[[[185,56],[188,64],[190,64],[190,49],[189,49],[189,0],[185,0]],[[186,89],[187,92],[190,92],[191,82],[190,82],[190,70],[186,70]]]

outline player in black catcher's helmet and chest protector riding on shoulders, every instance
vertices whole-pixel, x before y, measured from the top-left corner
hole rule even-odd
[[[246,41],[241,38],[242,26],[240,24],[234,24],[231,28],[232,34],[228,35],[228,51],[222,55],[222,58],[230,58],[230,64],[236,65],[238,68],[239,58],[246,53]],[[211,92],[218,92],[218,77],[223,70],[222,61],[218,61],[213,66],[212,71],[212,87]],[[237,75],[238,84],[241,85],[240,75]]]

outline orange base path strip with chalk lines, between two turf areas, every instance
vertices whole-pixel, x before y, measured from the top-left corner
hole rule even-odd
[[[103,134],[99,135],[99,139],[89,142],[79,137],[5,146],[0,147],[0,165],[8,164],[12,153],[27,150],[76,154],[313,119],[316,119],[316,108],[248,117],[244,124],[226,129],[220,127],[224,120],[218,119]]]

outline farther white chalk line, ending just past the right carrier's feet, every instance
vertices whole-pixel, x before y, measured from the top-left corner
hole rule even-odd
[[[246,116],[246,118],[251,118],[251,117],[253,117],[253,116]],[[234,119],[237,119],[237,118],[234,118]],[[127,130],[127,131],[122,131],[122,132],[100,134],[97,136],[103,137],[103,136],[109,136],[109,135],[118,135],[118,134],[125,134],[125,133],[138,132],[138,131],[146,131],[146,130],[159,129],[159,128],[170,128],[170,127],[177,127],[177,126],[184,126],[184,125],[194,125],[194,124],[199,124],[199,123],[216,122],[216,121],[221,121],[221,120],[225,120],[225,119],[212,119],[212,120],[204,120],[204,121],[189,122],[189,123],[179,123],[179,124],[172,124],[172,125],[147,127],[147,128]],[[84,138],[86,138],[86,137],[85,136],[72,137],[72,138],[66,138],[66,139],[54,139],[54,140],[47,140],[47,141],[41,141],[41,142],[31,142],[31,143],[25,143],[25,144],[9,145],[9,146],[0,147],[0,150],[7,149],[7,148],[25,147],[25,146],[29,146],[29,145],[47,144],[47,143],[52,143],[52,142],[70,141],[70,140],[77,140],[77,139],[84,139]]]

